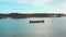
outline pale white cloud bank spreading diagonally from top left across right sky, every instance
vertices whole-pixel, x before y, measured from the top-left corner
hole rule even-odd
[[[0,0],[0,1],[33,4],[36,7],[42,7],[44,9],[47,8],[47,9],[45,9],[47,12],[48,11],[66,12],[65,0],[64,1],[63,0]],[[50,9],[52,9],[52,10],[50,10]]]

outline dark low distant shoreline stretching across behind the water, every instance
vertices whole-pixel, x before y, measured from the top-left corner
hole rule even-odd
[[[20,13],[10,13],[10,14],[1,14],[0,18],[26,18],[26,17],[63,17],[66,14],[55,14],[55,13],[33,13],[33,14],[20,14]]]

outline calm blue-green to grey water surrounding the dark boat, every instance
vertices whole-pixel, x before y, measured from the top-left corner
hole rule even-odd
[[[66,37],[66,17],[1,18],[0,37]]]

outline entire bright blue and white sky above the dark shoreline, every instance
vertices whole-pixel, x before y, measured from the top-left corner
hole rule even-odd
[[[66,13],[66,0],[0,0],[0,13]]]

